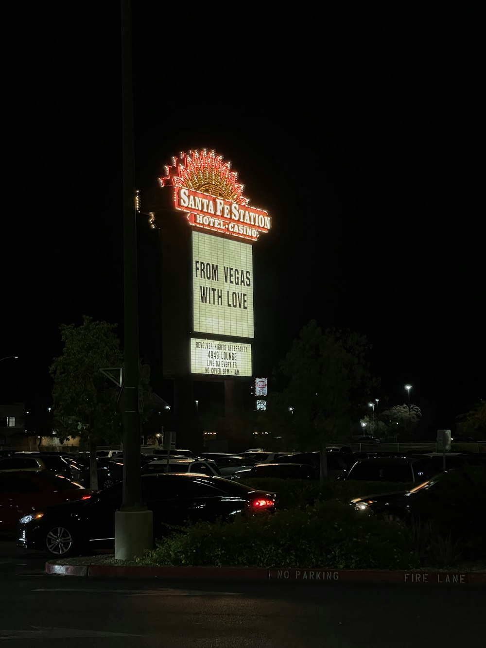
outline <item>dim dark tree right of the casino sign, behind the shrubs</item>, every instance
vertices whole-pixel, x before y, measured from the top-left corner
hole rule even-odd
[[[319,448],[322,477],[327,476],[325,446],[349,431],[353,419],[359,419],[363,393],[377,385],[365,359],[370,348],[364,336],[350,330],[323,332],[312,319],[272,373],[268,408],[260,420],[288,448]]]

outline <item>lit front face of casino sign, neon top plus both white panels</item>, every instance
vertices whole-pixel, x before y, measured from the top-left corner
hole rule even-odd
[[[214,152],[181,153],[166,170],[161,187],[174,187],[174,207],[192,227],[191,373],[251,376],[252,244],[272,219],[248,205],[237,174]]]

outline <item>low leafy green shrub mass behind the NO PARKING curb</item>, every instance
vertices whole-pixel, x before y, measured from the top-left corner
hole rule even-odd
[[[232,524],[200,522],[157,540],[139,564],[325,569],[410,569],[419,565],[405,526],[363,515],[338,500]]]

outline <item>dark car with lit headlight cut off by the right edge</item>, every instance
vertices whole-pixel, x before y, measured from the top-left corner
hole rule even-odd
[[[432,522],[439,533],[483,537],[486,542],[486,470],[480,466],[441,472],[408,491],[354,498],[356,509],[408,524]],[[483,547],[486,546],[483,542]]]

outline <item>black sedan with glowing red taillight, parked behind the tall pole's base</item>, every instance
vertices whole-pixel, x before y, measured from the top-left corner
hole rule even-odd
[[[171,525],[189,522],[230,522],[236,516],[273,513],[275,492],[259,491],[241,483],[196,474],[141,476],[143,502],[153,512],[154,538]],[[115,512],[122,504],[122,484],[98,491],[86,502],[38,509],[19,520],[17,546],[45,551],[49,557],[67,557],[115,545]]]

